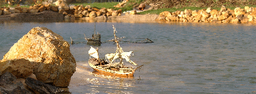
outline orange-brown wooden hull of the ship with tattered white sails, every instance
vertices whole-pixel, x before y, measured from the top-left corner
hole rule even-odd
[[[115,71],[115,70],[109,70],[106,68],[102,68],[101,66],[95,66],[88,62],[89,65],[94,68],[94,73],[97,75],[106,75],[106,76],[117,76],[120,78],[132,78],[134,72],[122,72],[122,71]]]

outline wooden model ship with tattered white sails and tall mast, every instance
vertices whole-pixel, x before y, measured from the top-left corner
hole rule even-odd
[[[119,46],[119,39],[116,36],[116,28],[114,28],[114,41],[116,43],[116,53],[109,53],[106,56],[106,61],[103,59],[99,59],[99,53],[98,48],[90,48],[88,51],[88,54],[94,58],[90,58],[88,60],[89,65],[94,68],[99,73],[102,73],[102,75],[108,75],[108,76],[121,76],[121,77],[133,77],[133,73],[135,73],[135,70],[140,68],[141,66],[137,68],[133,68],[132,66],[125,66],[123,63],[123,60],[126,60],[127,62],[131,63],[132,65],[137,65],[137,63],[134,63],[130,60],[131,53],[133,51],[124,52],[122,48]],[[115,62],[118,61],[118,62]]]

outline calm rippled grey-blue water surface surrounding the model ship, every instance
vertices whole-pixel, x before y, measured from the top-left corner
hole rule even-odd
[[[123,41],[149,38],[154,43],[123,43],[131,60],[144,65],[134,78],[95,75],[88,66],[90,45],[73,44],[78,66],[68,87],[71,93],[255,93],[255,24],[220,23],[96,23],[102,41],[113,39],[113,28]],[[30,29],[46,27],[66,41],[85,42],[94,23],[0,23],[0,59]],[[115,45],[104,43],[101,58]]]

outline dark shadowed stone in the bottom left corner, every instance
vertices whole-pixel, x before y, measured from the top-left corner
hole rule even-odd
[[[13,74],[6,72],[0,78],[0,93],[30,94],[31,92],[26,90]]]

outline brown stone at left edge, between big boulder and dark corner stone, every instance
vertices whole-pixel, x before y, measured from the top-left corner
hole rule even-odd
[[[33,66],[30,64],[30,61],[23,58],[1,61],[0,65],[0,71],[2,73],[8,71],[15,75],[16,78],[24,78],[33,73]]]

